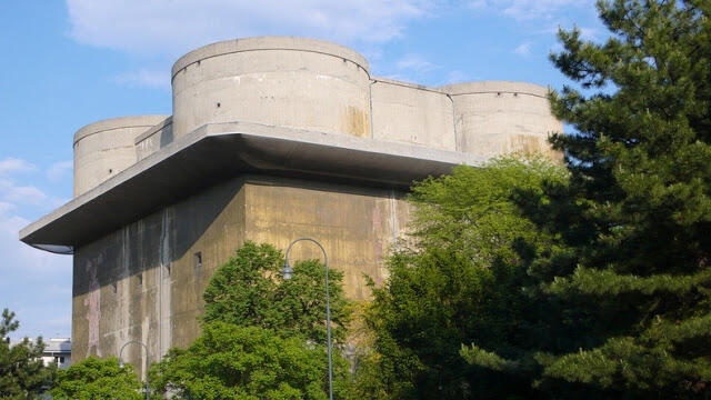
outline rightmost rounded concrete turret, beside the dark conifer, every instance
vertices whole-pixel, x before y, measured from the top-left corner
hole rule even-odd
[[[548,136],[562,132],[563,124],[551,114],[547,88],[485,81],[440,89],[452,98],[459,151],[482,157],[540,152],[560,159]]]

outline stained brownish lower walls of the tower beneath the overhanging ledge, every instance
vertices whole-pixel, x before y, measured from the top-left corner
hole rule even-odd
[[[202,292],[244,240],[284,249],[299,237],[324,246],[351,299],[369,296],[362,273],[385,278],[383,257],[407,224],[402,193],[272,177],[239,177],[170,206],[74,254],[72,359],[118,354],[138,339],[152,361],[199,334]],[[198,263],[200,254],[201,263]],[[290,259],[320,258],[300,243]],[[141,348],[126,359],[142,366]]]

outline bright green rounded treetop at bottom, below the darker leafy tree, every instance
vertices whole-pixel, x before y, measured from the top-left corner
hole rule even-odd
[[[348,390],[346,361],[334,357],[334,398]],[[152,370],[160,392],[179,399],[328,399],[326,348],[259,327],[204,326],[187,350],[172,349]]]

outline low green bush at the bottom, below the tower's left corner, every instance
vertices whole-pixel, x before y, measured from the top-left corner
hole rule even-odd
[[[93,356],[59,370],[51,390],[57,400],[141,400],[144,394],[130,364],[119,366],[119,359]]]

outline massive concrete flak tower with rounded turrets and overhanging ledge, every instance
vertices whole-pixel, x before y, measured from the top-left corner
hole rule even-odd
[[[202,292],[246,240],[319,240],[351,299],[387,279],[413,180],[509,152],[560,159],[544,87],[427,87],[372,77],[330,42],[263,37],[206,46],[172,69],[172,116],[74,136],[74,199],[20,232],[73,254],[72,360],[151,360],[198,334]],[[293,259],[318,258],[307,244]],[[143,364],[140,349],[127,360]]]

